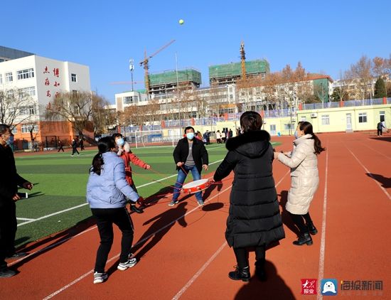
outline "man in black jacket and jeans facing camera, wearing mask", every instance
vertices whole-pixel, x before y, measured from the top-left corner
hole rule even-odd
[[[185,182],[188,172],[193,175],[193,180],[197,181],[201,178],[201,171],[204,168],[208,170],[208,151],[202,141],[195,139],[194,128],[189,126],[185,129],[186,137],[180,139],[173,151],[173,159],[178,170],[178,177],[173,188],[173,199],[168,206],[173,206],[178,203],[179,193],[181,192],[183,183]],[[203,205],[202,192],[195,193],[198,205]]]

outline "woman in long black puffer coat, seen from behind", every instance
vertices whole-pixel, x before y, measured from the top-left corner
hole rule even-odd
[[[285,237],[272,172],[273,148],[257,112],[242,114],[240,126],[244,133],[227,140],[228,153],[213,177],[221,181],[232,170],[235,173],[225,238],[233,247],[237,268],[228,276],[250,280],[247,248],[255,247],[255,274],[266,280],[265,248]]]

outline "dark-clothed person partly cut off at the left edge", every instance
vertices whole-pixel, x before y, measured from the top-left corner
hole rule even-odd
[[[0,124],[0,278],[16,274],[7,267],[6,257],[17,258],[26,255],[15,252],[15,235],[17,229],[16,205],[20,199],[18,186],[31,190],[33,184],[16,173],[14,154],[9,146],[11,130],[8,125]]]

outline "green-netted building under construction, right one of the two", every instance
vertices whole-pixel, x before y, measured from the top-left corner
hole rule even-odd
[[[246,77],[264,76],[269,73],[267,60],[250,60],[245,62]],[[210,85],[228,85],[242,79],[242,63],[228,63],[226,65],[211,65],[209,67]]]

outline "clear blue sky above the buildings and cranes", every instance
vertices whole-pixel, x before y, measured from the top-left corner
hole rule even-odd
[[[110,102],[150,72],[193,67],[208,85],[208,66],[266,58],[271,71],[301,61],[311,73],[338,79],[362,55],[391,53],[391,1],[6,1],[1,4],[0,45],[90,67],[91,89]],[[181,26],[179,19],[185,23]],[[144,85],[135,85],[144,88]]]

